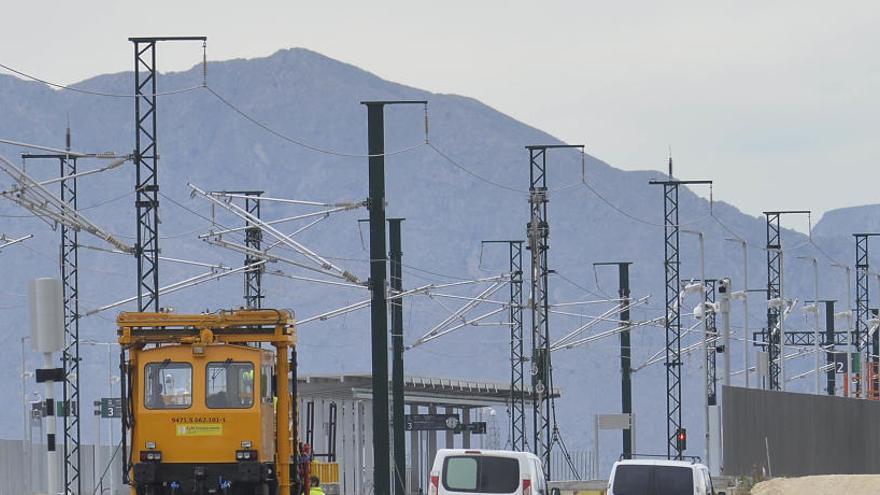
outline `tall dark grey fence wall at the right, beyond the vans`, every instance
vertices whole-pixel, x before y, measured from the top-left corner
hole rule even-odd
[[[880,473],[880,401],[724,387],[724,474]]]

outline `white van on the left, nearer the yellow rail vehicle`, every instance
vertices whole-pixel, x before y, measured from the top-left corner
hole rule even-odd
[[[541,461],[530,452],[440,449],[428,495],[549,495]]]

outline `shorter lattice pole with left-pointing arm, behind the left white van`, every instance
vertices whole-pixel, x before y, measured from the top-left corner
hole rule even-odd
[[[518,452],[528,450],[526,441],[525,361],[523,355],[522,245],[523,241],[483,241],[503,243],[510,254],[510,443]]]

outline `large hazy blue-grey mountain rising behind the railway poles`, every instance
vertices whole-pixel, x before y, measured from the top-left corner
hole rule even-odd
[[[305,50],[281,50],[266,58],[211,62],[207,84],[241,112],[253,116],[264,126],[246,120],[204,88],[201,66],[179,73],[161,74],[161,92],[197,87],[159,98],[160,234],[163,255],[203,262],[222,262],[238,266],[242,256],[210,246],[198,234],[222,226],[241,224],[231,215],[212,209],[204,200],[190,197],[187,182],[207,190],[260,189],[276,198],[295,198],[335,203],[360,201],[367,196],[366,112],[364,100],[429,100],[429,139],[458,165],[441,157],[424,143],[424,115],[421,107],[392,106],[386,110],[387,198],[389,216],[405,217],[403,224],[404,284],[415,287],[427,283],[470,280],[504,271],[507,253],[496,247],[481,248],[482,240],[519,239],[528,220],[529,160],[528,144],[558,144],[560,141],[539,129],[518,122],[500,111],[471,98],[438,94],[411,88]],[[75,85],[93,92],[130,94],[131,73],[94,77]],[[133,104],[131,98],[100,97],[47,86],[11,76],[0,76],[0,137],[31,143],[63,146],[69,118],[74,149],[115,150],[127,153],[133,147]],[[334,150],[338,156],[315,152],[294,144],[298,140],[312,147]],[[396,153],[399,150],[412,150]],[[587,149],[589,151],[589,148]],[[0,147],[0,154],[18,161],[20,148]],[[550,219],[550,268],[556,270],[550,281],[551,302],[609,299],[616,294],[613,270],[594,272],[596,261],[632,261],[634,297],[650,295],[647,305],[633,311],[633,318],[647,320],[662,315],[664,301],[662,191],[649,180],[663,178],[657,171],[624,172],[592,156],[582,157],[572,150],[550,150],[547,161]],[[100,164],[83,160],[82,170]],[[662,167],[663,157],[646,167]],[[29,173],[38,178],[57,174],[57,163],[28,161]],[[583,175],[582,175],[583,174]],[[711,167],[702,179],[712,176]],[[586,180],[590,190],[581,181]],[[690,177],[687,177],[690,178]],[[3,187],[10,180],[0,181]],[[80,180],[79,206],[84,215],[132,242],[134,233],[133,170],[127,164],[115,171]],[[598,193],[598,194],[597,194]],[[706,191],[701,190],[701,194]],[[601,195],[601,197],[599,196]],[[766,280],[765,224],[763,218],[745,215],[733,204],[709,203],[688,188],[681,189],[681,225],[697,229],[706,236],[707,277],[729,276],[734,289],[742,287],[743,262],[738,245],[725,241],[734,234],[749,244],[749,287],[759,288]],[[808,205],[804,205],[808,206]],[[275,219],[314,208],[296,208],[266,203],[263,218]],[[18,363],[21,337],[28,332],[26,286],[37,276],[57,276],[58,233],[9,203],[0,203],[0,231],[7,235],[35,234],[21,245],[0,253],[4,266],[4,286],[0,289],[0,393],[17,397],[21,393]],[[860,216],[831,212],[826,218],[848,216],[847,229],[861,226]],[[358,219],[363,210],[334,213],[325,221],[298,235],[301,242],[317,253],[360,275],[368,273],[364,238],[366,228]],[[874,216],[876,218],[876,215]],[[212,225],[215,222],[216,225]],[[823,218],[816,227],[815,242],[838,260],[851,259],[852,239],[834,230]],[[301,223],[298,225],[302,225]],[[295,229],[293,224],[287,231]],[[728,231],[729,229],[729,231]],[[828,236],[819,236],[819,232]],[[784,231],[787,254],[786,294],[801,300],[812,297],[812,273],[798,255],[821,257],[823,297],[842,297],[843,275],[828,268],[828,259],[801,233]],[[81,235],[81,243],[106,247],[101,241]],[[684,279],[699,278],[697,240],[681,234]],[[279,254],[294,258],[290,251]],[[527,253],[526,253],[527,254]],[[528,261],[526,261],[526,264]],[[272,269],[309,275],[289,265],[274,263]],[[203,267],[163,263],[162,284],[169,284],[197,273]],[[82,312],[132,295],[135,283],[134,260],[93,249],[81,249],[80,307]],[[267,306],[288,307],[305,318],[366,299],[363,289],[314,284],[266,276]],[[486,285],[448,289],[450,295],[476,295]],[[162,298],[163,306],[177,311],[203,311],[236,307],[242,301],[242,282],[228,277]],[[493,299],[503,300],[502,288]],[[690,296],[694,299],[696,296]],[[761,297],[752,297],[749,325],[759,328],[765,319]],[[409,343],[448,315],[448,308],[460,300],[414,296],[405,301],[406,340]],[[683,325],[694,324],[688,300]],[[115,338],[114,311],[82,319],[86,341],[111,342]],[[479,308],[474,315],[495,308]],[[564,315],[551,315],[553,338],[576,328],[589,315],[599,315],[608,304],[574,306]],[[741,321],[734,304],[733,332],[739,336]],[[499,317],[501,318],[501,317]],[[789,327],[805,323],[800,312]],[[503,318],[501,318],[503,320]],[[488,319],[486,321],[499,321]],[[609,328],[602,324],[597,328]],[[595,331],[595,330],[594,330]],[[697,332],[686,337],[697,338]],[[369,318],[366,310],[350,313],[300,328],[301,374],[363,372],[369,369]],[[646,361],[663,348],[663,330],[646,326],[634,330],[634,363]],[[504,381],[508,377],[508,336],[504,326],[468,326],[447,337],[416,347],[406,355],[412,374],[439,375]],[[618,347],[616,339],[554,355],[556,385],[563,390],[558,401],[559,424],[572,449],[586,450],[592,437],[593,414],[619,408]],[[734,369],[741,369],[741,344],[734,345]],[[111,393],[107,390],[108,363],[115,359],[107,347],[84,345],[83,395],[87,401]],[[27,353],[28,367],[38,357]],[[809,369],[811,359],[802,358],[789,369]],[[754,362],[754,361],[753,361]],[[115,364],[113,366],[116,366]],[[113,371],[115,373],[115,370]],[[684,369],[685,424],[691,429],[691,451],[700,452],[699,431],[702,400],[699,359],[689,356]],[[640,450],[661,451],[665,434],[664,372],[662,364],[636,373],[635,412]],[[738,380],[734,380],[738,383]],[[810,390],[812,380],[792,384]],[[27,391],[35,390],[32,382]],[[16,400],[15,403],[19,401]],[[500,411],[503,417],[503,411]],[[503,425],[502,425],[503,427]],[[17,437],[21,428],[20,410],[0,412],[0,432]],[[88,426],[87,426],[88,428]],[[502,430],[503,431],[503,430]],[[616,437],[616,436],[615,436]],[[505,435],[502,434],[502,442]],[[617,445],[617,440],[602,441]],[[604,452],[610,461],[613,447]],[[603,467],[604,469],[604,467]]]

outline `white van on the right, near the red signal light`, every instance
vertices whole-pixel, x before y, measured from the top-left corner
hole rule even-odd
[[[725,495],[712,486],[704,464],[668,460],[623,460],[614,463],[607,495]]]

